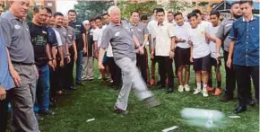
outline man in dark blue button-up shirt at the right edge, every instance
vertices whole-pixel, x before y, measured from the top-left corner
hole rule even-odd
[[[256,101],[259,103],[259,17],[252,13],[254,7],[251,0],[241,0],[239,4],[243,16],[232,25],[227,62],[229,67],[233,63],[236,73],[239,101],[234,110],[236,114],[247,110],[251,78],[255,86]]]

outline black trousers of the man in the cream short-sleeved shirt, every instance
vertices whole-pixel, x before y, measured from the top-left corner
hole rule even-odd
[[[168,87],[173,88],[172,59],[158,56],[160,84],[165,86],[166,74],[168,75]]]

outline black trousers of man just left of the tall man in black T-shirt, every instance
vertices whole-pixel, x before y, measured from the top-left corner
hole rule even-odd
[[[65,89],[74,86],[74,47],[69,48],[71,62],[65,66]]]

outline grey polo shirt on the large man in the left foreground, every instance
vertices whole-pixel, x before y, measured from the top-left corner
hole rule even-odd
[[[26,22],[7,11],[1,15],[0,31],[12,61],[34,63],[34,51]]]

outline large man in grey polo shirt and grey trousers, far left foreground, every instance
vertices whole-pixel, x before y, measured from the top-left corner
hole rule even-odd
[[[8,92],[12,105],[10,131],[37,132],[39,126],[33,111],[36,79],[34,52],[30,42],[30,31],[23,21],[30,8],[30,0],[10,1],[9,11],[0,19],[0,31],[12,63],[10,73],[16,85]]]

